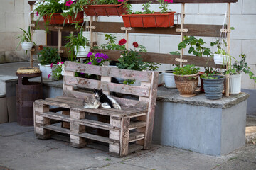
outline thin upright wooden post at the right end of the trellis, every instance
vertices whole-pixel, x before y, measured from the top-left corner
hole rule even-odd
[[[227,4],[227,26],[228,26],[228,32],[227,32],[227,43],[228,43],[228,47],[227,47],[227,52],[228,55],[230,55],[230,6],[231,4],[228,3]],[[231,57],[228,60],[227,63],[227,68],[226,69],[230,69],[231,66]],[[225,88],[225,96],[228,97],[229,96],[229,89],[230,89],[230,84],[229,84],[229,74],[226,75],[226,88]]]

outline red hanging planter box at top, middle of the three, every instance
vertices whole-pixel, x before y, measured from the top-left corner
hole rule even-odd
[[[121,16],[121,14],[127,13],[124,2],[118,5],[86,5],[83,8],[87,16]]]

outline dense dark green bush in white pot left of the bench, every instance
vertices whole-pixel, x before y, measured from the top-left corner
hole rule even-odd
[[[56,64],[60,61],[60,56],[58,55],[58,49],[52,47],[44,47],[43,50],[38,53],[38,60],[41,65]]]

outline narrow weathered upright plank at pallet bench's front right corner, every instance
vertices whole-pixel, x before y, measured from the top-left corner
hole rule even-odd
[[[129,117],[123,117],[121,119],[121,131],[120,131],[120,156],[123,157],[128,154],[129,145]]]

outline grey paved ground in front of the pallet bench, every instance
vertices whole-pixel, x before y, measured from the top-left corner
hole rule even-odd
[[[60,140],[38,140],[33,134],[33,127],[3,123],[0,124],[0,170],[3,169],[250,170],[256,169],[256,145],[245,145],[223,157],[154,145],[151,150],[115,158],[97,149],[76,149]]]

